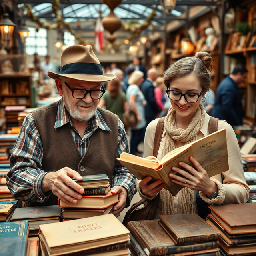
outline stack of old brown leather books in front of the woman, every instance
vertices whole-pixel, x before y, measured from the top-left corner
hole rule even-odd
[[[128,222],[133,255],[220,255],[220,233],[197,214],[159,215],[159,218]]]

